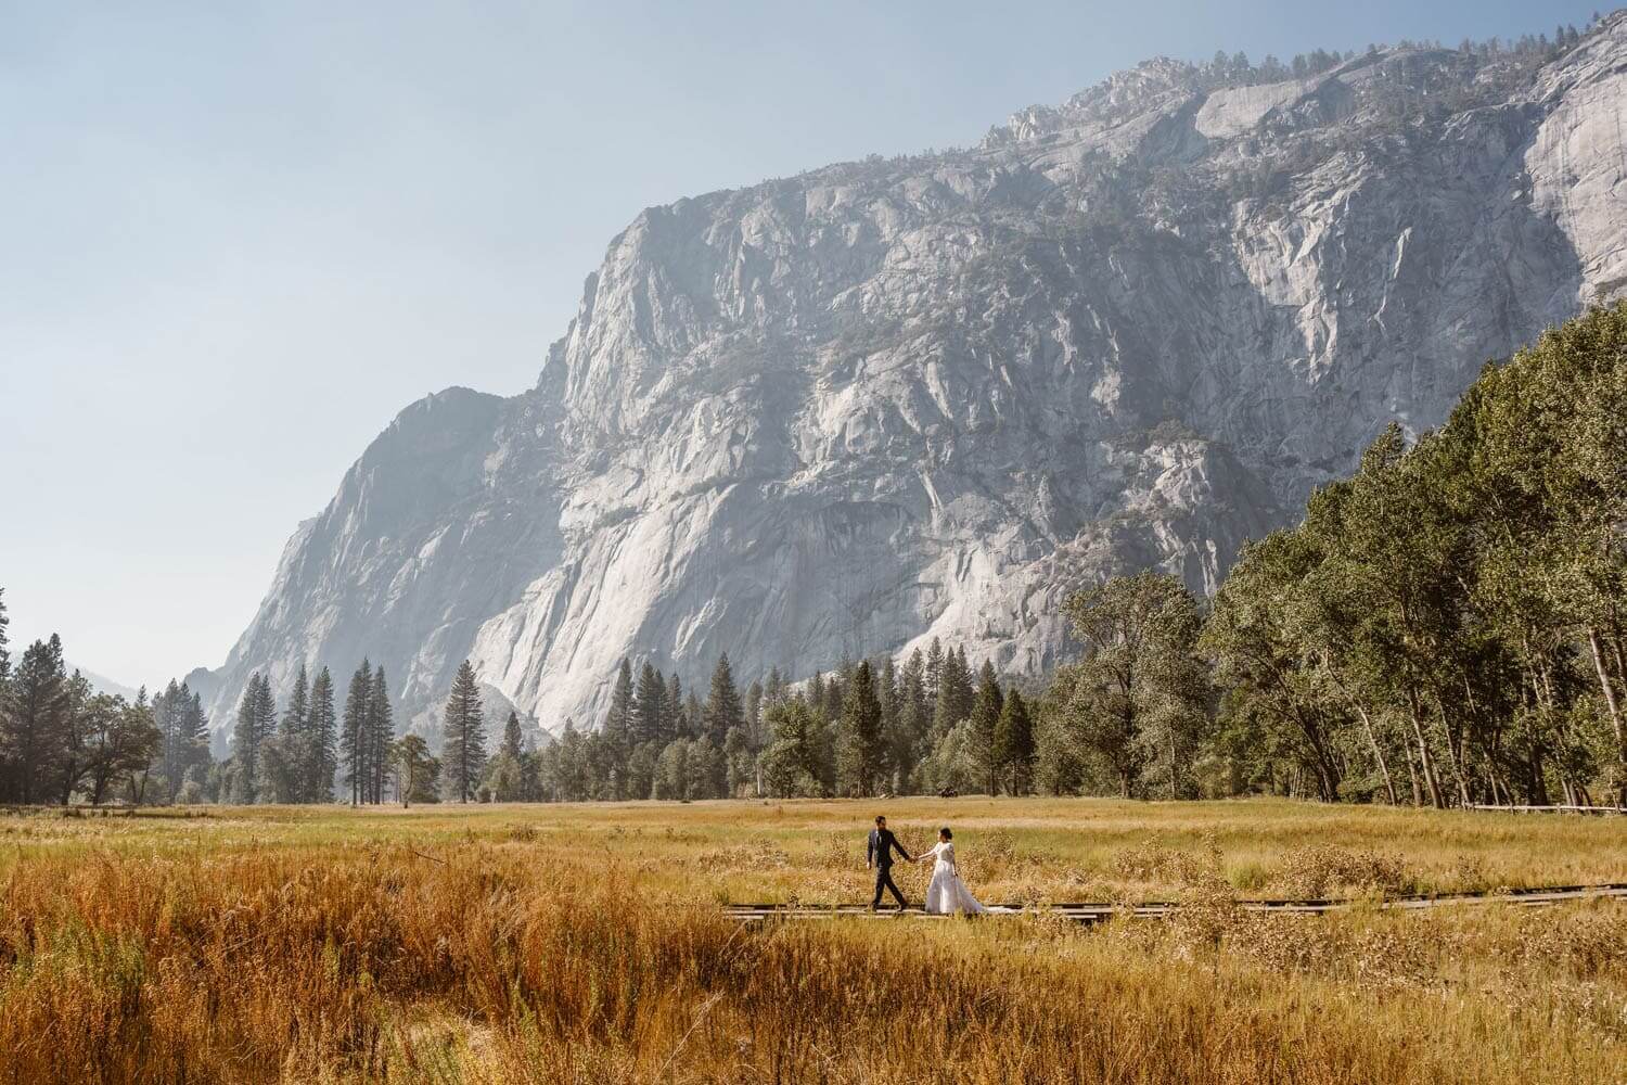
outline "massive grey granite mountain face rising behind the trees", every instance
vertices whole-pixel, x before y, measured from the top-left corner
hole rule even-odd
[[[547,729],[597,726],[623,656],[1043,670],[1066,592],[1210,589],[1386,421],[1617,293],[1624,102],[1627,15],[1264,85],[1158,60],[970,150],[646,210],[535,389],[413,403],[299,527],[216,727],[252,670],[363,656],[430,732],[465,656]]]

